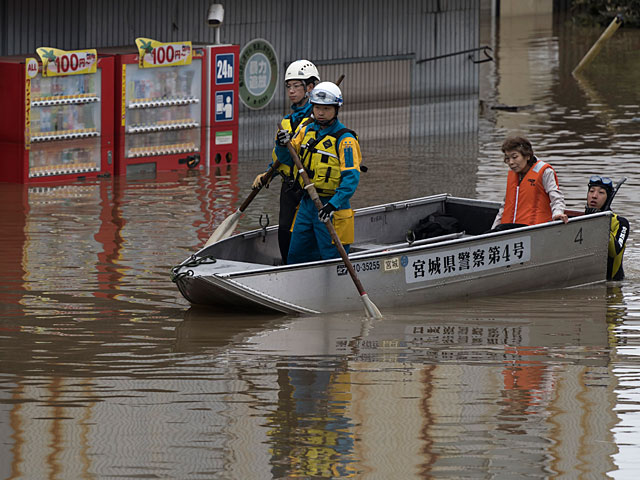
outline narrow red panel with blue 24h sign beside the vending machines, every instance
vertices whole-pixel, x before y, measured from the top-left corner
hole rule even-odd
[[[207,45],[207,165],[238,161],[238,45]]]

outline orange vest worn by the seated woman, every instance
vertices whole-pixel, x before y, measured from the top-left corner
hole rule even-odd
[[[551,165],[538,160],[531,166],[522,181],[519,180],[517,173],[509,171],[500,223],[536,225],[551,221],[551,200],[542,184],[542,174],[547,168],[551,168]],[[551,170],[557,184],[558,176],[553,168]]]

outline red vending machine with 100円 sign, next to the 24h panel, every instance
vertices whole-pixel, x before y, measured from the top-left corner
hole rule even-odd
[[[136,39],[116,53],[116,175],[200,168],[204,50]]]

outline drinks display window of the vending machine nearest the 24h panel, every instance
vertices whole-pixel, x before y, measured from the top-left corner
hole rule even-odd
[[[123,76],[125,158],[200,151],[201,59],[146,69],[130,63]]]

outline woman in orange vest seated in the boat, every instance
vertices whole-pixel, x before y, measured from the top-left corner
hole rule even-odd
[[[502,152],[509,166],[507,191],[491,228],[499,231],[551,220],[567,223],[558,176],[551,165],[536,158],[531,142],[509,137],[502,143]]]

